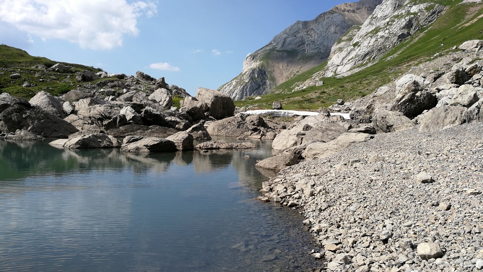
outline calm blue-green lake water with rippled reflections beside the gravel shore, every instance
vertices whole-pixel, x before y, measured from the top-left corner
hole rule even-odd
[[[311,271],[256,149],[124,154],[0,140],[0,271]],[[250,158],[244,158],[249,155]]]

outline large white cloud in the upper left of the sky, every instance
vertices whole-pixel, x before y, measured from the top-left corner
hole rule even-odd
[[[140,16],[156,12],[151,1],[0,1],[0,20],[43,40],[65,39],[90,49],[121,46],[125,34],[138,35]]]

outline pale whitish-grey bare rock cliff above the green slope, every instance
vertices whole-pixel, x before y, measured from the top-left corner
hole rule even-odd
[[[344,76],[356,71],[356,66],[378,60],[402,40],[431,25],[444,10],[438,1],[382,1],[350,41],[334,45],[320,76]]]

